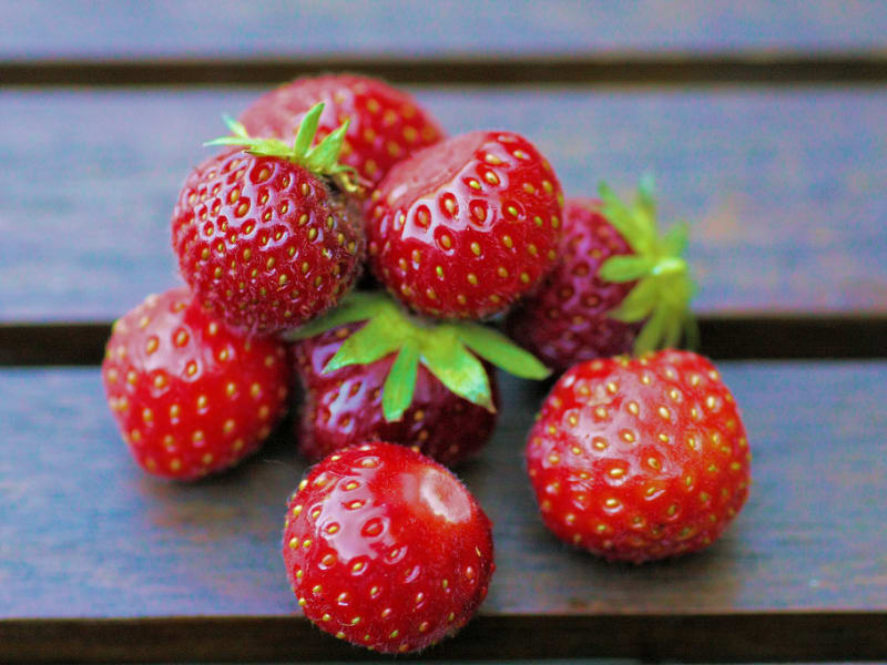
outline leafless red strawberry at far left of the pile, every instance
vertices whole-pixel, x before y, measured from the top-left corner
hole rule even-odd
[[[207,316],[185,288],[114,324],[102,362],[108,402],[146,471],[194,480],[236,464],[286,409],[285,347]]]

